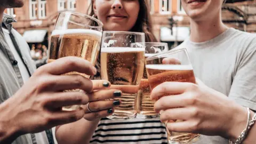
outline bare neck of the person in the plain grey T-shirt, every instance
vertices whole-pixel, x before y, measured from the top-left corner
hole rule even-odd
[[[194,21],[190,19],[190,28],[190,41],[196,43],[209,41],[228,29],[221,21],[221,14],[205,21]]]

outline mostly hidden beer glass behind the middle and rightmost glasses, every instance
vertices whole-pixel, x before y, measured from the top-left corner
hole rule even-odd
[[[145,58],[168,51],[167,43],[148,42],[145,43],[145,47]],[[147,71],[146,68],[144,68],[143,76],[140,82],[139,92],[137,94],[137,101],[135,103],[135,109],[137,110],[137,118],[159,118],[159,114],[156,114],[154,111],[155,101],[150,99],[150,93],[151,90],[148,83]]]

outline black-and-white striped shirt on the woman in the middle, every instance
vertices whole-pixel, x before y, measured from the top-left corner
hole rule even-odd
[[[159,120],[102,118],[90,143],[167,143],[167,139]]]

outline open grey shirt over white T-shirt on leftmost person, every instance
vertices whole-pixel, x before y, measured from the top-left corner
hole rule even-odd
[[[2,31],[3,30],[3,31]],[[19,47],[15,47],[10,37],[9,30],[2,29],[0,35],[0,102],[12,97],[26,82],[31,74],[36,69],[34,61],[31,60],[29,54],[29,47],[26,41],[18,34],[17,31],[12,30],[15,41]],[[20,49],[20,54],[17,52]],[[13,144],[49,144],[45,132],[37,134],[21,135]]]

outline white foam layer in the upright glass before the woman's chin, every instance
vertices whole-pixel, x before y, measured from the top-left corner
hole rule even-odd
[[[101,52],[119,53],[119,52],[143,52],[145,48],[134,47],[102,47]]]

